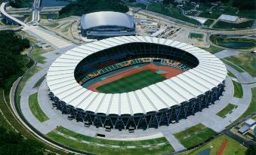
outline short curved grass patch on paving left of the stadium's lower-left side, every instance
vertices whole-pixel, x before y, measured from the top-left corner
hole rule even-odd
[[[49,118],[45,115],[44,111],[40,108],[39,101],[37,99],[37,93],[29,96],[29,108],[32,111],[32,114],[36,117],[40,122],[45,122],[49,120]]]

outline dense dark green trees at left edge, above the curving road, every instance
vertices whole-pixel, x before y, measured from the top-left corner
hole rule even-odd
[[[14,32],[0,31],[0,88],[8,89],[23,74],[27,56],[20,54],[29,47],[29,40],[20,39]]]

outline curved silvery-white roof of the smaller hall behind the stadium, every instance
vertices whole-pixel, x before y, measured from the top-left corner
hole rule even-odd
[[[113,11],[100,11],[82,16],[83,29],[91,29],[98,26],[122,26],[134,28],[134,19],[131,15]]]

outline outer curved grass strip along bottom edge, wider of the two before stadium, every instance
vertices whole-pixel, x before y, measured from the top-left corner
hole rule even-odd
[[[152,146],[152,147],[135,147],[135,148],[114,148],[114,147],[99,147],[96,144],[85,144],[81,141],[76,141],[71,138],[67,138],[64,135],[59,135],[57,132],[49,132],[46,135],[48,138],[51,138],[54,141],[59,142],[60,144],[66,145],[67,147],[72,147],[76,150],[82,150],[89,153],[97,154],[164,154],[174,152],[174,149],[170,144],[164,144],[162,146]]]

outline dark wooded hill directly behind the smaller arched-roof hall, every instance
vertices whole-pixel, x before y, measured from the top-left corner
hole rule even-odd
[[[116,11],[125,13],[128,7],[120,2],[120,0],[77,0],[66,5],[60,11],[60,18],[69,16],[82,16],[97,11]]]

